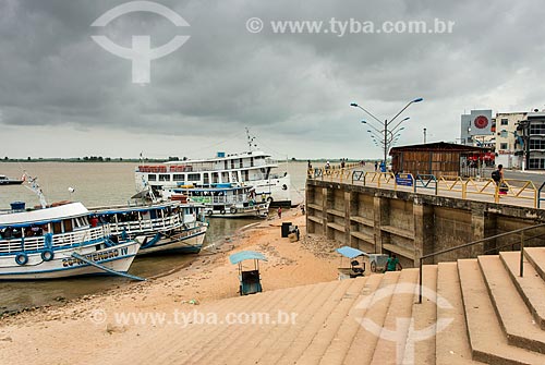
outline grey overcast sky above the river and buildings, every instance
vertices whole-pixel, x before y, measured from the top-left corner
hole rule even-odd
[[[382,153],[360,121],[373,119],[351,102],[383,120],[424,98],[402,115],[399,144],[422,142],[423,127],[428,141],[455,141],[464,110],[545,108],[538,1],[158,0],[189,26],[149,12],[92,26],[123,3],[0,2],[0,156],[208,157],[243,150],[247,126],[278,158],[371,158]],[[348,22],[343,35],[332,19]],[[350,32],[351,21],[436,19],[455,22],[452,33]],[[323,27],[278,33],[279,21]],[[133,36],[149,35],[152,48],[190,38],[153,60],[142,84],[94,35],[128,49]]]

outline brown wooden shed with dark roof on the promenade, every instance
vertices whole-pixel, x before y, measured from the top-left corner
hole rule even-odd
[[[437,142],[390,149],[393,172],[439,177],[475,177],[494,154],[482,147]],[[492,160],[494,165],[494,160]]]

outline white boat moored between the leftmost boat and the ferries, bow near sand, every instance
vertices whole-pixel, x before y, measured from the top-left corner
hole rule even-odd
[[[111,234],[133,238],[142,246],[138,255],[157,252],[198,254],[208,224],[204,206],[179,202],[92,208],[92,226],[109,224]]]

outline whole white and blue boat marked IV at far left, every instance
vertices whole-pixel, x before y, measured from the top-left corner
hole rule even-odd
[[[90,227],[81,203],[0,214],[0,280],[126,272],[140,243]]]

